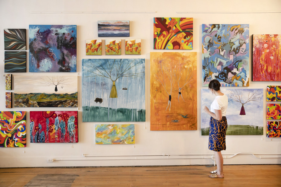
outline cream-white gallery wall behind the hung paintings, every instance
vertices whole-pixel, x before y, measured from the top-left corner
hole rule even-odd
[[[156,11],[156,13],[76,13],[93,11]],[[192,13],[177,13],[180,11]],[[216,13],[216,12],[276,12],[279,13]],[[34,12],[43,12],[33,14]],[[69,12],[46,14],[44,12]],[[209,12],[209,13],[205,13]],[[202,43],[201,24],[250,24],[251,34],[279,34],[281,30],[281,1],[279,0],[251,0],[251,1],[95,1],[95,0],[0,0],[0,61],[4,60],[4,34],[5,28],[28,28],[29,24],[76,24],[77,25],[77,73],[79,93],[79,143],[29,143],[29,113],[27,113],[27,147],[0,148],[0,167],[33,167],[33,166],[127,166],[127,165],[189,165],[212,164],[212,151],[208,150],[208,136],[201,136],[201,88],[202,88]],[[153,49],[153,17],[193,17],[193,52],[197,52],[197,98],[198,118],[196,131],[150,131],[150,52],[161,51]],[[130,20],[130,38],[141,38],[142,55],[121,55],[115,58],[145,58],[146,59],[146,122],[135,122],[136,144],[132,145],[96,145],[95,122],[82,122],[82,59],[87,58],[114,58],[105,56],[86,56],[85,40],[98,38],[98,20]],[[124,38],[122,38],[124,39]],[[251,38],[250,38],[251,39]],[[105,38],[102,38],[105,40]],[[28,45],[28,44],[27,44]],[[104,43],[103,43],[104,45]],[[104,46],[103,46],[104,47]],[[251,47],[251,44],[250,44]],[[28,46],[27,46],[28,48]],[[180,50],[179,50],[180,51]],[[183,51],[183,50],[182,50]],[[189,51],[189,50],[186,50]],[[185,51],[185,52],[186,52]],[[124,54],[124,51],[122,51]],[[250,55],[251,56],[251,55]],[[251,62],[251,57],[250,57]],[[27,59],[28,63],[28,59]],[[1,74],[4,75],[4,63]],[[251,68],[250,68],[251,69]],[[58,73],[13,73],[14,75],[57,75]],[[251,72],[250,72],[251,74]],[[266,85],[280,85],[281,82],[252,82],[249,88],[263,88]],[[39,110],[38,108],[5,109],[5,79],[0,77],[0,109],[13,110]],[[12,90],[14,91],[14,90]],[[222,154],[230,155],[238,152],[251,152],[254,154],[275,153],[281,154],[281,138],[266,138],[266,96],[264,96],[263,135],[253,136],[227,136],[226,151]],[[42,110],[42,109],[40,109]],[[44,108],[44,110],[57,110]],[[67,110],[62,108],[60,110]],[[205,115],[205,114],[204,114]],[[118,122],[122,124],[122,122]],[[182,154],[194,156],[170,157],[82,157],[86,155],[163,155]],[[197,156],[203,155],[203,156]],[[278,157],[278,155],[258,155],[262,157]],[[191,158],[192,157],[192,158]],[[226,156],[224,156],[226,157]],[[279,155],[281,157],[281,155]],[[47,159],[64,159],[64,161],[47,162]],[[137,158],[137,159],[136,159]],[[144,159],[145,158],[145,159]],[[150,159],[153,158],[153,159]],[[169,158],[169,159],[163,159]],[[173,159],[177,158],[177,159]],[[185,159],[184,159],[185,158]],[[191,158],[191,159],[189,159]],[[197,158],[197,159],[194,159]],[[66,161],[66,160],[68,161]],[[98,160],[91,160],[98,159]],[[111,160],[108,160],[111,159]],[[114,160],[123,159],[123,160]],[[237,155],[224,159],[225,164],[280,164],[281,158],[254,158],[251,155]]]

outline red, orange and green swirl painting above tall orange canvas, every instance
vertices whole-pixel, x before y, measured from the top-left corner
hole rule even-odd
[[[154,17],[154,49],[193,49],[193,18]]]

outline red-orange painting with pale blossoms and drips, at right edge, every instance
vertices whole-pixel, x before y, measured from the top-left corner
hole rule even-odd
[[[281,34],[253,34],[252,42],[252,81],[281,81]]]

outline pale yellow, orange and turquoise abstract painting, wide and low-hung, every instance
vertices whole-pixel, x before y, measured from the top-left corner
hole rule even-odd
[[[95,144],[134,144],[135,125],[95,125]]]

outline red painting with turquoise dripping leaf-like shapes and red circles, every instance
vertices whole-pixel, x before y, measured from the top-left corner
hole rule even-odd
[[[31,111],[31,143],[78,142],[77,111]]]

